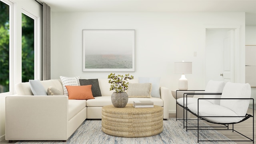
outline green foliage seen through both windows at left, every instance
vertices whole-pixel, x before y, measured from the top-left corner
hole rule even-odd
[[[10,87],[9,6],[0,1],[0,93]],[[22,14],[22,82],[34,79],[34,19]]]

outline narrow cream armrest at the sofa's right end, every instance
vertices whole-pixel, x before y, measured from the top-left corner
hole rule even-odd
[[[164,101],[164,119],[169,118],[169,89],[166,87],[160,87],[160,96]]]

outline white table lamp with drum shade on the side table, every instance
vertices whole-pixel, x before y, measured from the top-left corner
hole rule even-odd
[[[188,90],[188,80],[184,74],[192,74],[192,62],[174,62],[175,74],[182,74],[179,79],[179,90]]]

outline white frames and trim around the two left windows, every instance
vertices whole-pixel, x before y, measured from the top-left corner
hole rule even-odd
[[[22,82],[21,74],[21,16],[22,13],[34,19],[34,79],[42,79],[42,14],[37,14],[38,9],[31,9],[31,6],[26,6],[19,0],[1,0],[9,5],[10,19],[10,43],[9,43],[9,92],[0,93],[0,97],[15,95],[15,84]],[[31,4],[37,4],[35,1]],[[41,7],[41,6],[38,6]],[[41,11],[42,10],[38,10]]]

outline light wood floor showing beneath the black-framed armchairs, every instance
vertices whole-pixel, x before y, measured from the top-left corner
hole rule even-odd
[[[252,115],[252,109],[249,108],[247,111],[247,114],[251,114]],[[254,110],[254,116],[256,114],[256,110]],[[196,118],[193,114],[190,114],[191,118]],[[176,118],[176,114],[169,114],[169,118]],[[255,124],[256,118],[254,118],[254,141],[255,140],[255,130],[256,130],[256,124]],[[216,124],[212,124],[209,122],[206,122],[207,124],[209,124],[210,126],[216,126]],[[232,128],[232,127],[231,127]],[[252,118],[249,118],[248,120],[245,120],[244,122],[241,122],[239,124],[234,124],[234,129],[246,136],[248,136],[249,138],[252,138]],[[220,133],[224,134],[226,137],[230,138],[231,140],[248,140],[242,136],[240,136],[240,134],[238,134],[237,132],[232,132],[231,130],[218,130]],[[196,132],[196,131],[195,131]],[[252,144],[252,142],[236,142],[237,144]]]

